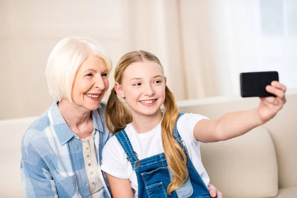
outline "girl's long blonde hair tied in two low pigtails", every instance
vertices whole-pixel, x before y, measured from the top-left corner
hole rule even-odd
[[[123,55],[116,65],[114,71],[115,82],[118,82],[119,84],[122,83],[123,73],[130,64],[144,61],[154,61],[158,63],[163,71],[163,66],[160,60],[152,53],[143,50],[132,51]],[[161,122],[162,145],[167,164],[174,174],[174,177],[167,188],[167,193],[171,195],[172,191],[180,188],[185,183],[189,173],[187,170],[185,151],[173,138],[173,129],[179,112],[174,95],[167,86],[165,87],[165,100],[163,104],[164,117]],[[127,124],[132,122],[132,115],[117,97],[114,88],[111,90],[111,94],[107,100],[105,121],[107,128],[112,133],[124,129]]]

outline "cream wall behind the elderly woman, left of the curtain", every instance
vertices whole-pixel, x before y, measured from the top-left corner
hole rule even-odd
[[[0,0],[0,120],[36,116],[49,107],[45,66],[64,37],[93,38],[116,63],[126,52],[126,5],[126,0]]]

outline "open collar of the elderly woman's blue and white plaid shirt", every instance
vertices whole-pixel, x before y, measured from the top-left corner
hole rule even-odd
[[[51,114],[51,116],[49,116],[50,123],[53,126],[54,131],[56,132],[56,135],[59,139],[61,146],[66,144],[73,137],[79,139],[79,137],[77,135],[75,135],[70,130],[69,126],[67,125],[66,121],[64,120],[64,118],[59,110],[59,107],[57,105],[57,101],[55,101],[51,105],[51,107],[49,108],[49,111],[50,111],[49,115]],[[94,122],[94,129],[96,129],[100,132],[103,132],[102,123],[99,122],[100,119],[94,119],[94,117],[99,117],[98,111],[92,110],[91,115],[92,115],[93,122]]]

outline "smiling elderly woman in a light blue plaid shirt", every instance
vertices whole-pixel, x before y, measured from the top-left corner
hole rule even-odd
[[[46,68],[53,104],[22,139],[21,176],[29,198],[110,198],[101,152],[110,57],[88,38],[61,40]],[[221,193],[210,185],[213,197]]]

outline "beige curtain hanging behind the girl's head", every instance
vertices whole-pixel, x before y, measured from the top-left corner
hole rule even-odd
[[[209,1],[129,0],[129,50],[158,56],[177,100],[217,96]]]

